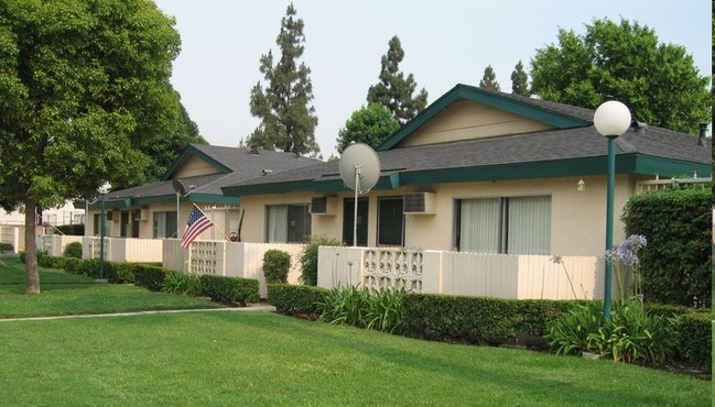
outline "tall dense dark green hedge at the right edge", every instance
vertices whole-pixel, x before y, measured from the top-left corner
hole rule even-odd
[[[647,302],[712,305],[712,191],[671,189],[632,197],[627,234],[643,234],[639,254]]]

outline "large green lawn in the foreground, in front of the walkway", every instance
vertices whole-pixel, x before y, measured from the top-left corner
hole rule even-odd
[[[28,298],[63,292],[58,285]],[[113,289],[88,285],[80,293],[96,288],[88,294],[95,299]],[[138,293],[148,308],[162,298]],[[7,297],[26,296],[0,292],[2,304]],[[651,369],[425,342],[270,312],[1,320],[0,346],[0,404],[13,406],[711,403],[709,382]]]

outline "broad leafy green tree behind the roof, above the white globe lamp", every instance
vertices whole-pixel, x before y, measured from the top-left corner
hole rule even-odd
[[[532,92],[545,100],[595,109],[613,96],[639,121],[690,133],[711,113],[707,78],[685,48],[625,19],[594,20],[585,35],[560,30],[531,65]]]

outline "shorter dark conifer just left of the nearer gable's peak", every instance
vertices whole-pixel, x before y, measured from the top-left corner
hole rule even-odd
[[[390,109],[392,116],[401,123],[414,118],[427,106],[427,91],[422,88],[414,96],[418,84],[412,74],[404,77],[400,72],[400,63],[404,58],[404,51],[400,38],[396,35],[388,43],[389,50],[382,55],[380,81],[368,89],[368,105],[382,103]]]

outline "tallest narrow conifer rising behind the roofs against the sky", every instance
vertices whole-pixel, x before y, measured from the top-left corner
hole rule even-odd
[[[259,127],[249,135],[247,144],[264,150],[281,150],[300,154],[319,152],[315,142],[317,117],[310,106],[313,100],[311,69],[297,64],[303,55],[303,19],[295,19],[291,3],[281,20],[281,32],[275,44],[281,50],[280,61],[273,65],[273,53],[263,54],[260,72],[267,87],[259,81],[251,89],[251,114],[261,119]]]

